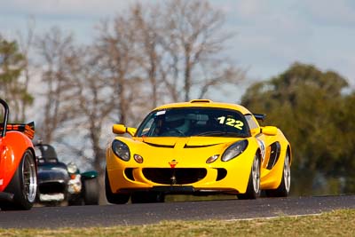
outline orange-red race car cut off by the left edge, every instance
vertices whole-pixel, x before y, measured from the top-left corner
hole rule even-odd
[[[3,99],[0,104],[0,209],[31,209],[37,190],[36,155],[31,141],[35,123],[8,123],[9,107]]]

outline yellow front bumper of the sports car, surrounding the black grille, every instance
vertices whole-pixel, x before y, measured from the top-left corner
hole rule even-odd
[[[218,159],[208,164],[206,160],[200,161],[200,167],[197,162],[191,162],[191,158],[180,159],[176,168],[170,168],[170,159],[162,159],[162,166],[148,162],[138,164],[133,159],[123,162],[108,151],[106,169],[114,194],[137,191],[244,194],[255,154],[256,151],[245,151],[229,162]]]

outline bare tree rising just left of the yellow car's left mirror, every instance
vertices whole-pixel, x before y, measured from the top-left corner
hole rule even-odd
[[[114,89],[107,83],[103,73],[104,62],[96,48],[85,47],[76,61],[79,63],[70,64],[78,89],[75,98],[78,107],[76,113],[73,111],[77,122],[74,124],[76,129],[84,131],[83,139],[90,141],[90,148],[83,146],[83,149],[89,148],[92,151],[93,167],[103,174],[106,144],[102,131],[115,107]]]

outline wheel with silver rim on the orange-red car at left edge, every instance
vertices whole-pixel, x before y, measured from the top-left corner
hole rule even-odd
[[[36,162],[31,151],[23,154],[19,166],[6,187],[5,192],[13,194],[13,201],[2,206],[4,210],[31,209],[36,201]]]

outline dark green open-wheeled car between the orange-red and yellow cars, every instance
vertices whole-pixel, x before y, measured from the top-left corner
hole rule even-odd
[[[37,202],[45,206],[98,205],[98,172],[81,172],[74,162],[59,162],[53,146],[35,146],[38,168]]]

